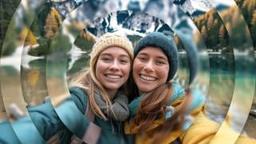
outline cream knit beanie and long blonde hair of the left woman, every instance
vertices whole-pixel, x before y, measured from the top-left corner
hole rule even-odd
[[[102,110],[95,102],[94,94],[95,90],[99,90],[102,95],[103,100],[106,102],[106,106],[112,106],[112,100],[107,94],[104,86],[95,76],[96,63],[98,61],[98,56],[102,53],[103,50],[106,50],[110,46],[118,46],[130,56],[130,66],[132,66],[134,52],[132,43],[128,38],[120,34],[107,33],[102,35],[101,38],[94,44],[92,51],[90,53],[90,69],[81,74],[77,80],[72,82],[70,86],[79,86],[82,89],[86,90],[86,93],[89,98],[89,103],[91,110],[94,111],[94,114],[106,120],[105,114],[102,113]]]

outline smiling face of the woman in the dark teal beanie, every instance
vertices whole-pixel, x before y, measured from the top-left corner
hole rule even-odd
[[[168,72],[168,58],[160,48],[146,46],[134,58],[133,77],[139,94],[165,83]]]

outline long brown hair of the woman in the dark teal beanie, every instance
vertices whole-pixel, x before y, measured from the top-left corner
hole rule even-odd
[[[136,124],[135,129],[141,132],[148,130],[155,120],[165,116],[166,104],[170,101],[172,95],[173,87],[170,82],[162,84],[162,86],[146,94],[142,98],[142,102],[138,106],[138,113],[133,119],[133,122]],[[166,122],[150,130],[152,143],[161,142],[162,138],[165,138],[171,131],[178,130],[182,127],[185,112],[190,106],[191,101],[192,95],[190,90],[188,90],[182,100],[182,104],[175,109],[174,114]]]

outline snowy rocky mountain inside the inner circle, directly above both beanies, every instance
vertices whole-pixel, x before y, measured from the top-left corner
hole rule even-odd
[[[159,18],[148,16],[148,14],[142,12],[131,12],[128,10],[108,14],[104,18],[94,20],[93,24],[92,26],[87,26],[86,30],[96,37],[106,32],[118,30],[122,30],[125,33],[130,33],[129,31],[132,30],[137,35],[153,31],[173,33],[170,27]]]

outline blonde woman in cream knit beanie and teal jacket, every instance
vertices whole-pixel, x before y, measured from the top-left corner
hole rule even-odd
[[[123,134],[123,121],[130,114],[126,85],[133,55],[132,43],[125,36],[102,35],[92,48],[90,69],[72,82],[70,98],[55,110],[50,102],[28,107],[34,123],[27,117],[15,122],[18,138],[25,143],[40,142],[35,138],[39,132],[49,143],[133,143],[132,137]],[[15,143],[17,138],[7,125],[7,121],[0,125],[6,131],[0,142]]]

